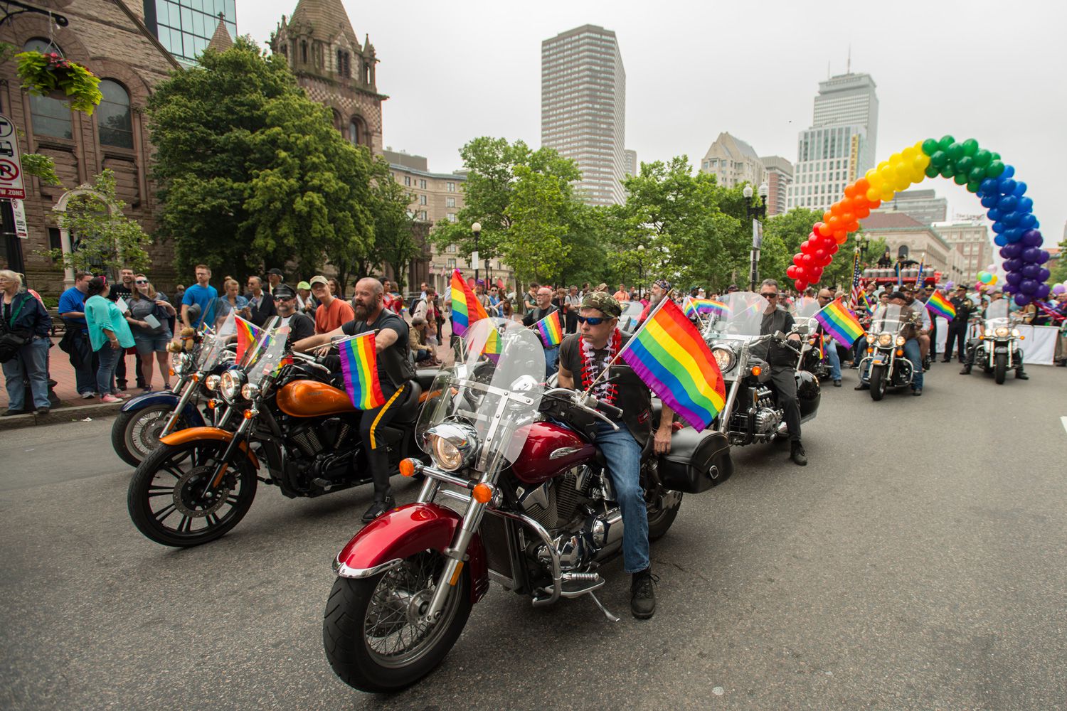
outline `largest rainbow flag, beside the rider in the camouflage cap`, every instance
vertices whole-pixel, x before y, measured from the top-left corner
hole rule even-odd
[[[715,420],[726,403],[726,384],[712,352],[669,298],[630,339],[622,359],[698,432]]]

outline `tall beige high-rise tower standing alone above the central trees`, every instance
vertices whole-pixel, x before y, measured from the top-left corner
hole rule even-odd
[[[541,145],[573,159],[590,205],[621,204],[626,72],[615,32],[584,25],[541,43]]]

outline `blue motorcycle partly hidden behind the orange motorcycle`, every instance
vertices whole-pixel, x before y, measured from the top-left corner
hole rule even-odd
[[[208,423],[227,425],[221,411],[208,409],[211,392],[206,384],[233,365],[233,346],[227,348],[226,339],[211,332],[194,333],[182,341],[191,348],[178,343],[169,348],[171,371],[176,378],[173,388],[127,401],[111,425],[111,446],[131,467],[141,464],[159,447],[159,440],[173,432]]]

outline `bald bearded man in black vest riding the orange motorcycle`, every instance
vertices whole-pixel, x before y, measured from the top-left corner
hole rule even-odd
[[[378,352],[378,379],[385,397],[385,404],[363,411],[360,436],[367,453],[370,473],[375,478],[375,501],[363,514],[364,521],[372,521],[396,505],[389,487],[389,458],[385,442],[376,433],[387,425],[403,402],[408,381],[415,376],[408,338],[408,323],[384,307],[382,282],[364,277],[355,282],[352,305],[355,319],[325,334],[317,334],[293,343],[294,351],[308,351],[325,345],[334,338],[375,334]]]

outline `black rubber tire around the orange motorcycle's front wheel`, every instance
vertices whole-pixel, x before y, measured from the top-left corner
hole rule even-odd
[[[146,538],[154,540],[161,546],[172,546],[174,548],[191,548],[193,546],[202,546],[206,543],[211,543],[216,538],[221,538],[222,536],[229,533],[230,529],[241,522],[244,515],[249,513],[249,508],[252,507],[252,501],[256,498],[256,485],[259,480],[256,476],[256,470],[249,462],[248,455],[243,451],[238,450],[238,462],[230,462],[232,468],[236,468],[241,475],[241,499],[238,501],[237,506],[235,506],[236,514],[226,523],[222,526],[217,526],[211,529],[211,532],[205,534],[204,536],[198,536],[196,538],[189,538],[187,536],[173,536],[169,533],[158,531],[152,524],[153,515],[148,507],[148,485],[152,483],[153,474],[159,468],[159,465],[173,451],[188,449],[189,445],[200,445],[209,443],[218,445],[221,447],[226,447],[226,442],[219,442],[210,440],[208,442],[186,442],[186,445],[162,445],[155,452],[145,457],[144,462],[138,465],[138,468],[133,471],[133,476],[130,479],[129,489],[126,492],[126,508],[129,511],[130,520],[133,521],[133,526],[140,531]]]

